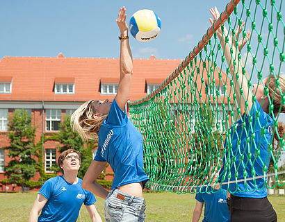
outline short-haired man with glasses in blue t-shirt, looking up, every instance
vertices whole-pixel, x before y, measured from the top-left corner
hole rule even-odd
[[[81,187],[82,180],[77,177],[80,164],[78,151],[68,149],[60,154],[58,166],[63,175],[44,182],[33,204],[29,222],[75,222],[82,203],[86,205],[92,222],[101,222],[94,205],[95,196]]]

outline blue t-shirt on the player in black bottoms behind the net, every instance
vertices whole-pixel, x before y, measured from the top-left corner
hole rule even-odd
[[[236,177],[238,180],[252,178],[254,173],[255,176],[263,176],[263,166],[268,169],[271,157],[268,145],[271,144],[273,122],[273,118],[256,101],[250,115],[244,114],[231,126],[224,145],[220,182],[236,181]],[[234,196],[245,198],[264,198],[268,195],[264,178],[247,180],[246,184],[244,181],[234,182],[222,187],[229,187]]]

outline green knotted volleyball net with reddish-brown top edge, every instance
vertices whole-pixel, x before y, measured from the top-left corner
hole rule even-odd
[[[230,1],[189,56],[158,89],[129,103],[131,121],[144,138],[149,189],[197,193],[198,187],[217,184],[215,172],[221,169],[220,182],[231,193],[283,185],[284,169],[278,167],[278,160],[285,141],[277,131],[281,110],[274,116],[273,100],[268,97],[273,121],[268,127],[261,123],[262,110],[257,108],[256,114],[252,114],[248,103],[249,96],[252,104],[257,101],[257,91],[250,90],[252,83],[264,87],[264,96],[269,95],[268,86],[262,82],[268,74],[277,80],[274,94],[279,89],[281,105],[285,102],[279,85],[279,76],[285,73],[282,10],[282,1]],[[231,47],[234,73],[215,32],[221,24],[222,37]],[[238,36],[237,28],[242,28]],[[238,46],[238,40],[246,40],[247,31],[250,38],[241,51],[234,53],[232,47]],[[248,92],[243,91],[243,84]],[[235,124],[238,120],[241,131]],[[279,143],[274,144],[266,132],[276,134]],[[232,144],[233,135],[238,137],[236,147]],[[256,137],[263,137],[263,141],[254,140]],[[241,147],[243,139],[245,147]],[[249,180],[254,189],[247,186]],[[238,182],[244,184],[243,190],[237,186],[230,189],[231,184]]]

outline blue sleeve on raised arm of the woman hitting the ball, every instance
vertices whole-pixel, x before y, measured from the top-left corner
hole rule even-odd
[[[123,112],[123,110],[120,108],[119,105],[117,105],[117,102],[114,99],[113,103],[111,104],[108,117],[106,119],[106,124],[112,126],[122,126],[127,123],[127,120],[127,114]]]

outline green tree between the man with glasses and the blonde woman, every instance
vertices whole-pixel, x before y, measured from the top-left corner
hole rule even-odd
[[[81,167],[78,176],[82,179],[92,162],[92,148],[97,141],[88,140],[86,144],[83,144],[79,134],[74,132],[70,126],[70,116],[65,117],[63,123],[60,123],[59,127],[60,131],[57,136],[61,145],[58,146],[58,149],[60,153],[63,153],[63,151],[66,151],[69,148],[73,148],[81,153]]]

